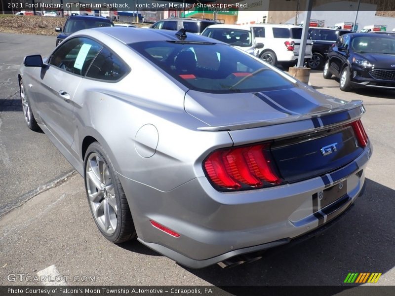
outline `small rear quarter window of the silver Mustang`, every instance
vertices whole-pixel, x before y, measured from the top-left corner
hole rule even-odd
[[[87,77],[115,81],[124,76],[129,68],[109,49],[103,47],[93,64],[90,66]]]

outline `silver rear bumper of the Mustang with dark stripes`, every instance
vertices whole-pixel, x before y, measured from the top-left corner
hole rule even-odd
[[[370,156],[369,143],[356,160],[330,174],[242,192],[219,192],[202,177],[168,192],[123,176],[120,180],[138,240],[182,265],[202,268],[278,247],[321,229],[354,203],[363,188],[364,168]],[[344,181],[347,194],[322,208],[319,201],[315,204],[317,192]],[[154,228],[150,220],[180,237]]]

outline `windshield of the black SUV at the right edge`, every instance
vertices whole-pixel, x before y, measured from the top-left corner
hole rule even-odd
[[[395,38],[385,36],[356,37],[352,41],[355,52],[395,54]]]

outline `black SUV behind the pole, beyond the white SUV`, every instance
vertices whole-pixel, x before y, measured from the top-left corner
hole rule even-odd
[[[347,33],[351,33],[351,31],[330,28],[309,28],[309,38],[313,40],[313,56],[308,61],[309,67],[313,70],[320,70],[324,65],[329,47],[340,36]]]

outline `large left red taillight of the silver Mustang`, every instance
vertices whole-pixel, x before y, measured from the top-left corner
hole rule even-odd
[[[223,189],[279,184],[269,148],[270,144],[259,144],[216,150],[205,159],[203,166],[209,180]]]

